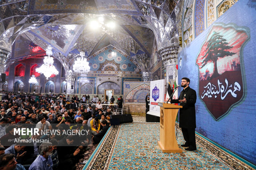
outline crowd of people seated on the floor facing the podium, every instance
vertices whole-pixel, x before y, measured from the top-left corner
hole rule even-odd
[[[105,99],[105,100],[104,100]],[[103,104],[102,105],[102,101]],[[123,107],[123,99],[117,105],[112,96],[83,95],[72,98],[67,95],[14,95],[6,94],[0,101],[0,169],[8,170],[62,170],[76,169],[88,144],[97,144],[110,126],[114,109]],[[115,107],[114,107],[115,106]],[[34,125],[39,130],[90,130],[92,138],[78,140],[72,135],[17,135],[14,129]],[[25,143],[25,140],[49,142]],[[22,139],[22,140],[21,140]],[[79,138],[80,139],[80,138]],[[18,141],[18,142],[17,142]]]

